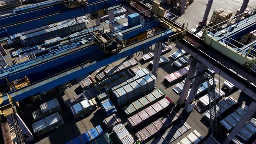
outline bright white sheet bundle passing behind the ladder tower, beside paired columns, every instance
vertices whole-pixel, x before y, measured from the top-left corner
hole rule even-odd
[[[220,99],[223,95],[225,95],[225,92],[222,90],[219,91],[219,89],[215,89],[215,99]],[[210,96],[213,97],[213,92],[210,93]],[[206,108],[209,105],[209,95],[208,93],[206,95],[203,95],[201,98],[199,98],[198,101],[204,108]],[[211,101],[213,102],[213,101]]]

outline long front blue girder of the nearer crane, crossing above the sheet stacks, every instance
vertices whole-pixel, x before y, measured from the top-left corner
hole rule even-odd
[[[49,90],[58,85],[62,85],[63,83],[69,82],[72,79],[76,79],[79,76],[86,75],[87,73],[95,71],[105,65],[111,64],[112,62],[118,61],[119,59],[125,58],[126,56],[130,56],[136,52],[141,51],[143,47],[151,46],[159,41],[164,42],[168,38],[168,36],[171,36],[173,34],[175,34],[175,32],[171,31],[170,29],[165,30],[154,36],[148,37],[147,39],[143,39],[131,45],[125,46],[120,52],[118,52],[118,54],[109,56],[106,59],[99,59],[95,60],[94,62],[89,62],[85,65],[78,66],[74,69],[63,72],[49,79],[45,79],[41,82],[37,82],[25,88],[13,91],[9,93],[9,95],[13,98],[14,102],[21,101],[24,98],[30,97],[31,95]],[[8,96],[3,95],[3,103],[0,106],[7,105],[8,103]]]

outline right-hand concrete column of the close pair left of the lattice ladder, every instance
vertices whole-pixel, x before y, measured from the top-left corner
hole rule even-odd
[[[196,73],[197,77],[194,79],[195,85],[192,85],[192,88],[190,90],[190,93],[188,95],[188,98],[184,107],[185,111],[187,112],[190,112],[191,110],[193,110],[191,107],[191,104],[197,95],[198,85],[202,83],[203,75],[206,70],[207,70],[207,67],[205,65],[203,64],[198,65],[197,73]]]

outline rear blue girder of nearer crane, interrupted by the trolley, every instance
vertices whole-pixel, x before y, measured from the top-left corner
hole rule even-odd
[[[148,29],[152,29],[159,25],[159,22],[152,20],[149,22],[142,23],[138,26],[129,28],[126,27],[127,30],[123,30],[120,33],[123,33],[124,39],[129,39],[131,37],[137,36],[139,33],[145,32]],[[70,48],[71,49],[71,48]],[[32,59],[26,62],[19,63],[17,65],[13,65],[10,67],[7,67],[5,69],[0,70],[0,83],[6,83],[5,78],[7,78],[9,81],[13,81],[16,79],[23,78],[24,76],[28,76],[31,78],[31,75],[35,75],[31,79],[31,81],[35,81],[38,79],[43,79],[45,77],[48,77],[48,73],[44,73],[47,71],[51,71],[51,69],[54,69],[58,67],[59,65],[65,64],[67,62],[74,62],[77,63],[74,59],[76,59],[79,56],[85,56],[87,54],[91,54],[92,56],[98,56],[100,57],[100,51],[97,45],[90,46],[82,51],[77,51],[72,54],[57,57],[56,59],[51,59],[51,57],[56,56],[59,53],[62,53],[65,49],[60,49],[59,52],[56,51],[53,54],[47,54],[46,56],[41,56],[36,59]],[[65,50],[67,52],[67,50]],[[94,53],[98,53],[98,55],[95,55]],[[72,63],[69,63],[70,67]],[[65,66],[68,66],[65,64]],[[75,65],[73,65],[75,66]],[[55,72],[58,72],[56,70]]]

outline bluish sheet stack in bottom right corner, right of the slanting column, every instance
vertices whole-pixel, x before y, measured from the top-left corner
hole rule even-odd
[[[256,133],[256,119],[251,118],[233,138],[235,144],[244,144]]]

